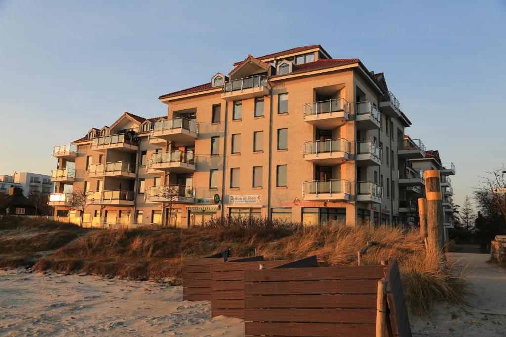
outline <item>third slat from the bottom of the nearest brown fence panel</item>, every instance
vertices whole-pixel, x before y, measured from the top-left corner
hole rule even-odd
[[[248,308],[376,308],[376,295],[246,296]]]

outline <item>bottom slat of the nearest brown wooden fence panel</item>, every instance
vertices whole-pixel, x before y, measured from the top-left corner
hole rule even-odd
[[[373,324],[250,322],[244,325],[246,336],[364,337],[374,336],[374,332]]]

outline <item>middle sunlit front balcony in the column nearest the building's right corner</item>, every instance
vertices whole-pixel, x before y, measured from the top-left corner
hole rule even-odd
[[[350,160],[352,142],[344,138],[307,141],[304,143],[304,159],[317,165],[332,166]]]

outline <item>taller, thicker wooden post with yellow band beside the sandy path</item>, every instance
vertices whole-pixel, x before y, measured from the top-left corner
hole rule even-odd
[[[427,195],[427,234],[429,249],[442,252],[444,244],[443,198],[441,196],[441,177],[439,170],[425,171]]]

